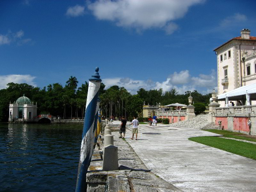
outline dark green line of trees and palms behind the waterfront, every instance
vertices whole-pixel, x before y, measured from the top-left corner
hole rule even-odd
[[[37,114],[51,114],[61,118],[84,118],[88,82],[85,81],[77,88],[78,81],[75,76],[70,76],[65,86],[59,83],[49,84],[43,89],[28,84],[8,83],[6,89],[0,90],[0,122],[6,122],[9,118],[9,103],[13,103],[23,94],[34,103],[37,102]],[[124,87],[117,85],[105,89],[105,84],[100,85],[100,108],[103,116],[117,118],[124,116],[138,116],[142,112],[143,101],[146,104],[167,105],[182,103],[188,105],[188,96],[192,95],[195,102],[208,104],[211,94],[202,95],[197,91],[187,91],[178,94],[175,89],[163,93],[159,90],[145,90],[140,88],[137,94],[132,95]]]

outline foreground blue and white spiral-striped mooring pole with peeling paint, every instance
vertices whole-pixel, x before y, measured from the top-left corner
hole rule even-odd
[[[85,116],[84,116],[84,129],[81,143],[80,159],[78,165],[77,179],[76,179],[76,192],[84,192],[86,189],[85,179],[89,166],[90,153],[93,143],[93,127],[95,121],[95,111],[97,107],[97,100],[100,90],[100,75],[99,68],[95,68],[95,72],[89,78],[89,87],[86,100]]]

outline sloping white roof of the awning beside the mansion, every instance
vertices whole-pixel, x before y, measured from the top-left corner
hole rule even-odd
[[[245,85],[234,90],[231,90],[229,92],[222,93],[220,95],[217,95],[217,98],[218,100],[225,100],[226,97],[229,98],[229,100],[245,99],[246,93],[253,94],[252,98],[255,98],[256,84]]]

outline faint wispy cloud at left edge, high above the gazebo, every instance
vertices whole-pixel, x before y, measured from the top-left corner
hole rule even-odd
[[[24,31],[22,30],[17,31],[16,33],[12,33],[12,31],[8,31],[8,33],[5,35],[0,34],[0,45],[10,44],[15,42],[17,43],[17,45],[22,45],[32,41],[32,39],[30,38],[22,39],[23,36],[24,36]]]

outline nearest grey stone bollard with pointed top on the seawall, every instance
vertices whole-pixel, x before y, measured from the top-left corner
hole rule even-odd
[[[118,154],[117,147],[114,145],[107,145],[103,147],[103,163],[102,170],[103,171],[114,171],[118,170]]]

